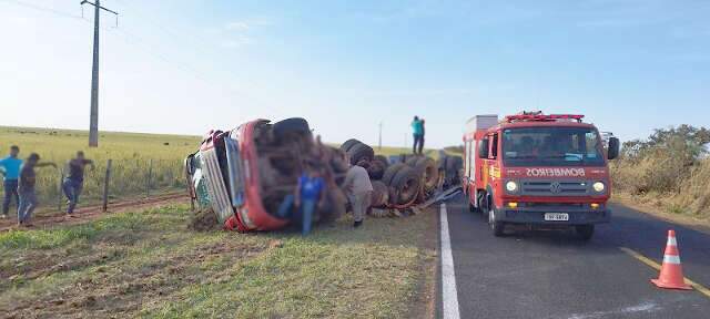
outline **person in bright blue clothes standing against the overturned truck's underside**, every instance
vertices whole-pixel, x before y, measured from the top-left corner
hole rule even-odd
[[[296,186],[296,194],[294,195],[294,206],[296,209],[301,209],[301,217],[303,224],[303,236],[311,233],[313,227],[313,213],[316,206],[323,207],[323,187],[325,182],[321,177],[321,172],[315,169],[308,169],[303,173],[298,178],[298,186]]]

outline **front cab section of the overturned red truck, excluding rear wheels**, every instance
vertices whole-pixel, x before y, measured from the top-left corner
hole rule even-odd
[[[345,210],[338,183],[347,172],[339,150],[314,140],[298,117],[271,123],[256,120],[232,131],[210,131],[200,150],[185,158],[191,197],[212,210],[226,229],[273,230],[293,218],[278,214],[306,166],[325,171],[325,205],[314,223],[335,219]]]

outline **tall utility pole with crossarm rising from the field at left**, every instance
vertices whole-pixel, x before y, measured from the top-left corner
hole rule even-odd
[[[99,146],[99,12],[101,10],[119,16],[118,12],[101,7],[100,0],[91,3],[81,1],[81,6],[91,4],[94,7],[93,13],[93,64],[91,65],[91,117],[89,123],[89,147]],[[118,20],[116,20],[118,21]]]

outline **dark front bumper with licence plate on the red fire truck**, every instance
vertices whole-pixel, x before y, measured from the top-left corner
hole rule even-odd
[[[611,222],[611,209],[606,206],[549,206],[496,208],[496,222],[528,225],[589,225]]]

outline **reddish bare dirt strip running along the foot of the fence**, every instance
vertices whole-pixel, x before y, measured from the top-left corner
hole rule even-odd
[[[174,203],[185,203],[189,197],[185,193],[165,194],[155,197],[130,199],[116,203],[111,203],[108,212],[103,212],[99,205],[79,208],[74,212],[72,217],[67,214],[54,212],[38,214],[32,218],[32,228],[52,227],[58,225],[74,225],[85,223],[87,220],[97,219],[105,214],[120,213],[126,210],[140,210],[142,208],[159,207],[163,205]],[[0,220],[0,231],[8,231],[11,229],[18,229],[17,219],[8,218]],[[31,228],[30,228],[31,229]]]

